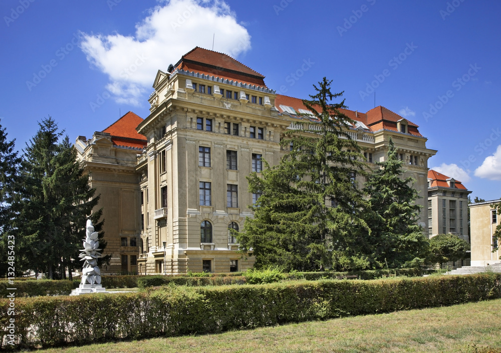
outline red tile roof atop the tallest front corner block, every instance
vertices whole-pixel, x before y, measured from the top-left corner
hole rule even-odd
[[[178,69],[266,87],[265,77],[230,56],[195,47],[175,65]]]

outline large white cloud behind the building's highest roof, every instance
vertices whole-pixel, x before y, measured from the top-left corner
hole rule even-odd
[[[136,24],[135,36],[83,33],[87,60],[108,75],[108,89],[119,103],[140,105],[157,70],[167,71],[195,47],[236,57],[250,49],[247,30],[221,0],[159,0]],[[210,30],[209,30],[210,29]]]

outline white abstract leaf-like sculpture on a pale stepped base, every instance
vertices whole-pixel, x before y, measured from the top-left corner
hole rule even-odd
[[[99,249],[99,234],[94,231],[90,219],[87,220],[85,230],[84,248],[80,250],[82,253],[79,255],[80,261],[84,261],[82,281],[80,286],[73,290],[73,295],[106,291],[101,285],[101,270],[97,265],[97,259],[101,257],[101,253],[99,253],[101,250]]]

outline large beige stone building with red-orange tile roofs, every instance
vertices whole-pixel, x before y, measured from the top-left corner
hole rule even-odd
[[[101,194],[109,273],[252,267],[230,233],[252,217],[249,205],[259,197],[248,192],[245,177],[261,172],[263,160],[278,164],[287,152],[280,146],[286,132],[301,134],[300,123],[309,123],[299,115],[308,114],[301,99],[277,95],[264,79],[225,54],[197,47],[158,71],[148,117],[129,112],[92,138],[77,139],[79,158]],[[428,234],[428,158],[436,151],[426,148],[416,124],[384,107],[342,113],[355,122],[348,133],[364,149],[368,168],[385,160],[392,138],[403,177],[416,180],[419,224]]]

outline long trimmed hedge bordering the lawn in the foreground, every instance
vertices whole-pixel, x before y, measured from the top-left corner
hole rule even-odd
[[[166,286],[139,293],[16,298],[16,315],[0,316],[0,348],[221,332],[499,297],[501,274]],[[9,305],[1,299],[0,311],[8,312]]]

